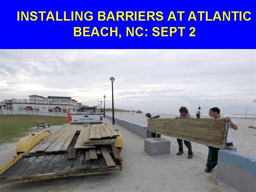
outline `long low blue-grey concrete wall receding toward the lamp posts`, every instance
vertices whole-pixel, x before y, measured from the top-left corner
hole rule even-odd
[[[105,114],[105,117],[112,121],[111,116],[108,116],[108,115]],[[115,123],[117,123],[120,126],[128,129],[130,132],[133,132],[133,133],[139,135],[140,137],[142,137],[144,139],[151,138],[151,134],[147,130],[145,130],[145,127],[143,127],[143,126],[140,126],[138,124],[131,123],[131,122],[128,122],[128,121],[124,121],[122,119],[117,119],[117,118],[115,118]]]

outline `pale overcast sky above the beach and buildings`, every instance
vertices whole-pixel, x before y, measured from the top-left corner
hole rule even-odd
[[[64,96],[143,112],[255,113],[255,50],[0,50],[0,100]]]

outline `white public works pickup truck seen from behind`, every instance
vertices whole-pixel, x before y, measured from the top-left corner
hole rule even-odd
[[[70,124],[100,124],[103,123],[102,113],[98,107],[81,107],[69,114]]]

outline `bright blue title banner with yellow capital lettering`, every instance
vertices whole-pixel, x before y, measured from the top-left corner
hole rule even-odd
[[[255,49],[255,1],[4,1],[1,49]]]

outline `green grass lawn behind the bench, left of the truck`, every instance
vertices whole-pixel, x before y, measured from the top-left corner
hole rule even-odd
[[[27,114],[1,114],[0,115],[0,145],[16,142],[17,138],[31,132],[31,127],[37,127],[36,120],[44,119],[51,125],[66,124],[66,117],[27,115]]]

